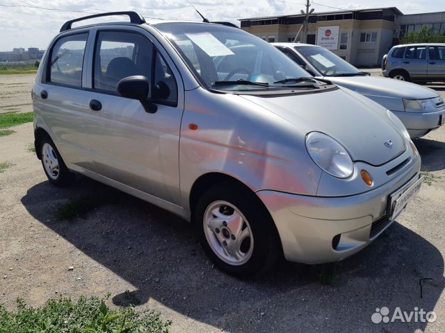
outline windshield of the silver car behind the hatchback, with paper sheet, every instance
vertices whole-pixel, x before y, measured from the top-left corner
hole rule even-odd
[[[323,47],[295,46],[295,49],[323,76],[346,76],[362,73],[349,62]]]

